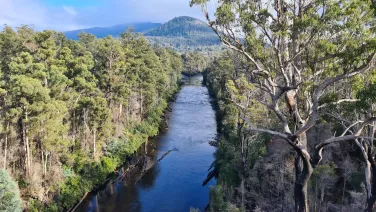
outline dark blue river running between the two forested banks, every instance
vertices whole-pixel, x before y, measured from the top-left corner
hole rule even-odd
[[[215,112],[202,77],[187,80],[171,105],[169,129],[148,147],[154,160],[171,149],[160,163],[138,183],[109,183],[106,189],[89,196],[78,211],[189,211],[202,210],[209,200],[209,186],[202,181],[213,162],[215,148],[208,142],[215,137]]]

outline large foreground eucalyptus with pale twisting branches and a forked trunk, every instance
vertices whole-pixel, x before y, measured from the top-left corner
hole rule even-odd
[[[247,74],[263,93],[257,100],[275,114],[280,125],[258,128],[243,118],[250,130],[279,136],[297,152],[295,208],[308,211],[307,185],[323,148],[364,137],[364,127],[375,119],[353,123],[358,125],[354,134],[324,140],[313,151],[307,148],[311,141],[306,133],[326,107],[355,101],[339,94],[338,99],[323,103],[328,88],[375,68],[372,2],[221,0],[213,20],[208,2],[192,0],[191,6],[200,5],[222,43],[253,65]]]

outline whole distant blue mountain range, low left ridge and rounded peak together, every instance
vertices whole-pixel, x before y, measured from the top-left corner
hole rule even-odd
[[[160,23],[134,23],[122,24],[112,27],[95,27],[65,32],[70,39],[78,39],[81,32],[91,33],[98,38],[108,35],[119,37],[127,28],[133,28],[135,32],[143,33],[151,43],[158,43],[179,51],[196,49],[220,48],[218,36],[203,21],[182,16],[171,21]]]

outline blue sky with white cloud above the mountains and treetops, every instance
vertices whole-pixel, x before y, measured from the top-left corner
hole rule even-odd
[[[165,23],[178,16],[204,18],[189,0],[0,0],[0,26],[33,25],[36,30]]]

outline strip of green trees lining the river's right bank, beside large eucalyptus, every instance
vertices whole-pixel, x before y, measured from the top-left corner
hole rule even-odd
[[[242,129],[244,121],[239,114],[254,121],[256,125],[265,125],[266,112],[251,97],[254,86],[248,82],[240,67],[247,66],[237,54],[223,53],[215,58],[204,71],[204,81],[218,104],[219,126],[223,138],[215,153],[215,167],[219,170],[217,185],[211,190],[212,211],[237,211],[229,202],[233,190],[240,186],[243,176],[241,142],[249,133]],[[243,106],[242,108],[239,105]],[[265,143],[269,137],[254,136],[245,146],[247,157],[245,170],[248,172],[256,160],[266,154]]]

